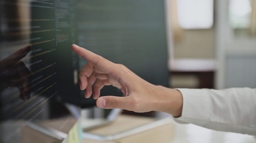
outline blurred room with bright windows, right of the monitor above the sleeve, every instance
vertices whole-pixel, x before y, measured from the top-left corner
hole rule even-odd
[[[256,87],[255,0],[169,0],[170,85]]]

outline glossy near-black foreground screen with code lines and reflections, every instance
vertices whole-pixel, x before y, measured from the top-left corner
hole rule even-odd
[[[51,118],[52,101],[79,94],[75,10],[70,0],[0,2],[1,143],[21,142],[29,122]]]

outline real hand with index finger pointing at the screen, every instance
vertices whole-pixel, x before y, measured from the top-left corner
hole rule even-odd
[[[88,61],[79,73],[80,88],[85,90],[85,98],[94,93],[93,98],[97,99],[98,107],[122,108],[138,113],[163,111],[174,116],[181,115],[182,95],[179,91],[152,85],[124,65],[112,63],[78,45],[73,44],[72,50]],[[121,89],[125,97],[99,97],[100,89],[105,85]]]

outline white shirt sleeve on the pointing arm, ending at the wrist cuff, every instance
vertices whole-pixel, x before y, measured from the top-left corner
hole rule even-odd
[[[182,116],[178,123],[191,123],[213,130],[256,135],[256,89],[177,89],[182,93]]]

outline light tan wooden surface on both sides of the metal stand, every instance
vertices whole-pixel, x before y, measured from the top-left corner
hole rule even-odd
[[[134,129],[139,126],[150,124],[155,119],[150,117],[139,117],[131,115],[121,115],[117,118],[117,121],[108,126],[89,130],[89,133],[100,135],[112,135],[126,130]],[[91,139],[83,139],[83,143],[166,143],[173,139],[174,128],[173,124],[165,124],[138,134],[134,134],[129,137],[124,137],[116,141],[95,141]]]

